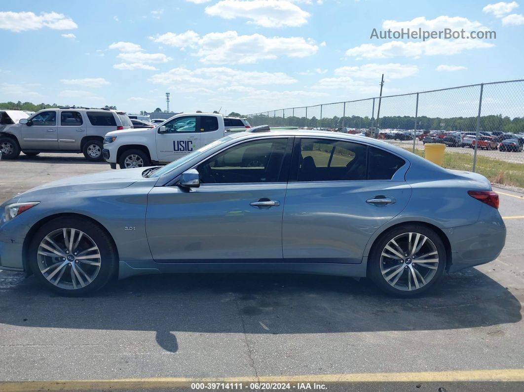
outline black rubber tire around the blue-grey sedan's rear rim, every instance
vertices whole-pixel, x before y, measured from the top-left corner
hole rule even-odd
[[[424,286],[413,289],[410,291],[401,290],[391,286],[382,275],[380,270],[380,256],[384,250],[386,244],[393,238],[400,236],[403,233],[420,233],[425,237],[428,237],[433,244],[435,245],[436,251],[439,256],[439,264],[436,269],[434,276]],[[435,284],[437,284],[442,275],[444,275],[446,267],[446,250],[444,244],[438,234],[436,234],[432,229],[416,224],[407,224],[403,226],[398,226],[392,229],[387,230],[375,241],[373,248],[369,253],[368,262],[367,262],[367,275],[372,281],[386,294],[398,298],[412,298],[417,297],[423,293],[426,293],[430,290]]]

